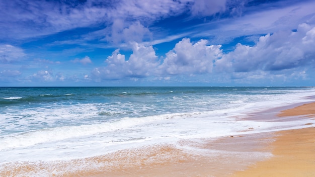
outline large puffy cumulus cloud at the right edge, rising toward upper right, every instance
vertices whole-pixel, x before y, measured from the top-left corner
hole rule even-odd
[[[284,70],[314,66],[315,26],[300,24],[296,31],[279,31],[259,38],[254,46],[238,44],[216,62],[218,69],[235,72]]]

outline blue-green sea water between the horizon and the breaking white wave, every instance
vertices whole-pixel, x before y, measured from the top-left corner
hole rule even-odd
[[[300,87],[3,87],[0,135],[98,124],[124,117],[237,108],[244,103],[307,90]]]

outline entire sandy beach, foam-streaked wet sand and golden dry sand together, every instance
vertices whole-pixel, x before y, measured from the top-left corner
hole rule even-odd
[[[313,125],[314,115],[315,103],[278,114],[311,118],[308,126]],[[70,161],[9,163],[0,176],[40,170],[51,176],[315,176],[314,134],[315,127],[310,127],[183,140],[181,148],[161,144]],[[81,170],[70,170],[77,166],[82,166]]]

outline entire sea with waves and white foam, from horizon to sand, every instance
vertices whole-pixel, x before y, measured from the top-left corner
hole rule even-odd
[[[309,127],[243,118],[314,96],[315,87],[0,87],[0,166]]]

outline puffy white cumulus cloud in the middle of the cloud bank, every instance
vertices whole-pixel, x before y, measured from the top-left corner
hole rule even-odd
[[[210,73],[215,60],[222,56],[221,45],[207,45],[207,40],[196,43],[184,38],[175,48],[166,54],[163,64],[159,67],[162,73],[202,74]]]

